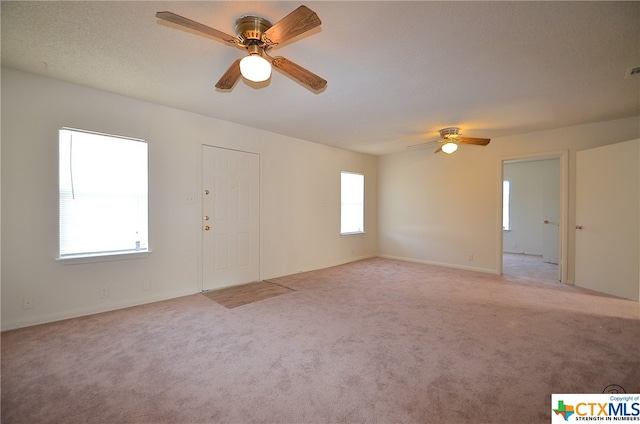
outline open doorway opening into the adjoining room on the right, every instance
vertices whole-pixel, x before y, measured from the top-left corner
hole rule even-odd
[[[558,283],[562,276],[562,155],[502,162],[502,274]]]

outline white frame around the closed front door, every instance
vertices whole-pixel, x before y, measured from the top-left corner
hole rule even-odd
[[[202,197],[204,194],[204,164],[203,164],[203,155],[204,155],[204,148],[205,147],[213,147],[216,149],[223,149],[223,150],[231,150],[234,152],[240,152],[240,153],[249,153],[252,155],[257,155],[258,156],[258,281],[262,281],[262,155],[260,154],[260,152],[251,152],[249,150],[242,150],[242,149],[232,149],[230,147],[225,147],[225,146],[218,146],[215,144],[209,144],[209,143],[201,143],[200,144],[200,148],[199,148],[199,160],[198,160],[198,165],[197,165],[197,178],[198,178],[198,188],[199,188],[199,196],[196,196],[197,199],[197,204],[196,204],[196,208],[197,208],[197,217],[196,217],[196,222],[198,225],[198,246],[196,249],[196,254],[197,254],[197,278],[198,278],[198,288],[200,289],[200,292],[204,292],[204,264],[203,264],[203,243],[204,243],[204,231],[203,231],[203,223],[202,223]]]

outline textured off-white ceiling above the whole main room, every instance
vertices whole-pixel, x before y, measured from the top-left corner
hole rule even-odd
[[[234,34],[297,2],[2,2],[2,65],[371,154],[461,127],[495,138],[640,115],[640,2],[306,2],[322,25],[273,50],[328,81],[215,83],[242,51],[155,18]]]

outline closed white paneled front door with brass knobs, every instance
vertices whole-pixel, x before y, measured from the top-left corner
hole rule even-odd
[[[202,288],[260,275],[260,158],[202,146]]]

